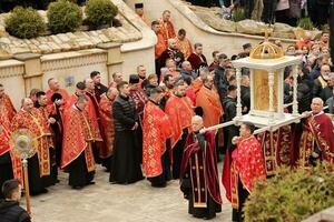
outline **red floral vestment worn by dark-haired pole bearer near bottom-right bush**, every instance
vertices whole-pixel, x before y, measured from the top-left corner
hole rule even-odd
[[[259,142],[254,135],[240,139],[232,153],[230,191],[232,205],[238,209],[238,179],[243,186],[252,193],[256,180],[265,180],[266,171]]]

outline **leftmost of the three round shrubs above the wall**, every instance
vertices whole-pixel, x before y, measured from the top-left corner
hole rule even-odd
[[[39,37],[46,31],[41,16],[32,8],[17,7],[4,20],[6,31],[20,39]]]

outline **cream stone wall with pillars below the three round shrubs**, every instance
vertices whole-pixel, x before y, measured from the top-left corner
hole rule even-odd
[[[154,73],[154,46],[157,41],[155,33],[124,1],[112,0],[112,2],[118,7],[119,17],[124,19],[126,24],[121,28],[121,31],[110,28],[115,32],[112,34],[120,38],[117,41],[110,39],[109,41],[98,41],[100,37],[96,37],[96,42],[87,48],[72,47],[67,50],[60,49],[48,52],[27,50],[21,51],[21,53],[13,53],[16,51],[12,51],[11,44],[20,41],[26,42],[26,40],[0,37],[0,50],[7,52],[6,57],[2,57],[2,60],[0,59],[0,83],[4,85],[6,92],[10,95],[17,109],[20,107],[20,100],[27,97],[31,89],[47,90],[49,78],[59,79],[61,88],[72,93],[76,83],[88,78],[94,70],[100,71],[105,84],[111,81],[111,75],[116,71],[122,72],[125,80],[128,80],[128,75],[136,72],[138,64],[144,64],[148,73]],[[129,39],[129,37],[135,37],[134,34],[136,38]],[[70,39],[71,36],[73,33],[66,33],[61,34],[61,38],[65,41],[66,38]],[[52,37],[46,37],[46,39],[57,40],[60,38]],[[1,43],[1,41],[6,41],[6,38],[10,39],[10,42],[8,44]],[[43,39],[39,40],[42,41]],[[78,41],[78,38],[72,37],[72,40]],[[41,44],[41,42],[36,43],[39,47]],[[24,46],[22,44],[19,49],[24,49]]]

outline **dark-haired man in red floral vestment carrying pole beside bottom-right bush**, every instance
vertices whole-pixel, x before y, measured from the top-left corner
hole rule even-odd
[[[232,153],[232,163],[224,163],[223,185],[226,198],[232,202],[233,221],[243,221],[243,206],[255,182],[266,179],[263,152],[253,135],[254,130],[253,123],[244,122],[240,125],[240,137],[233,139],[237,148]]]

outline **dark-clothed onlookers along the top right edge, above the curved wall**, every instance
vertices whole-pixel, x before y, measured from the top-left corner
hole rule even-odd
[[[222,7],[222,18],[230,19],[233,10],[243,8],[246,19],[265,23],[283,22],[297,26],[301,18],[308,17],[317,28],[330,19],[331,0],[186,0],[195,6]],[[322,14],[321,17],[318,14]]]

